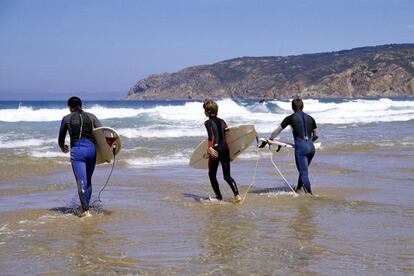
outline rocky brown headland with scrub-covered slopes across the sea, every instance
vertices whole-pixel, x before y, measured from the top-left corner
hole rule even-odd
[[[287,57],[243,57],[151,75],[128,100],[414,96],[414,44]]]

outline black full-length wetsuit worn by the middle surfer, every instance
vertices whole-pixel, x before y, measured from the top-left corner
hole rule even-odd
[[[208,133],[208,147],[213,147],[218,152],[218,157],[212,156],[208,159],[208,176],[210,178],[211,187],[216,194],[216,198],[221,200],[223,197],[220,193],[219,184],[217,181],[217,169],[219,162],[223,169],[224,180],[229,184],[233,194],[236,196],[239,194],[237,189],[236,181],[230,175],[230,151],[226,143],[225,129],[227,128],[226,123],[216,117],[209,117],[204,123]]]

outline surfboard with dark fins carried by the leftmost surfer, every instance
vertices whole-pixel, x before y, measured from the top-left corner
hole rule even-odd
[[[122,140],[119,134],[110,127],[98,127],[93,130],[96,141],[96,164],[109,163],[122,148]]]

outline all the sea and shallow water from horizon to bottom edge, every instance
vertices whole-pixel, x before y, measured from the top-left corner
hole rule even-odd
[[[289,101],[218,104],[260,137],[291,113]],[[57,146],[66,103],[0,102],[0,274],[414,275],[414,99],[304,104],[322,143],[316,196],[293,194],[270,162],[295,185],[291,150],[252,145],[232,163],[236,205],[221,172],[225,201],[210,202],[207,172],[188,166],[206,138],[201,102],[85,102],[124,148],[101,202],[111,165],[97,166],[93,217],[80,219]]]

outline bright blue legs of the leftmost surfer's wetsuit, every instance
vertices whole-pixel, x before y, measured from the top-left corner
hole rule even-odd
[[[88,139],[79,140],[72,147],[71,162],[82,209],[83,211],[89,210],[92,196],[92,174],[96,163],[95,144]]]

